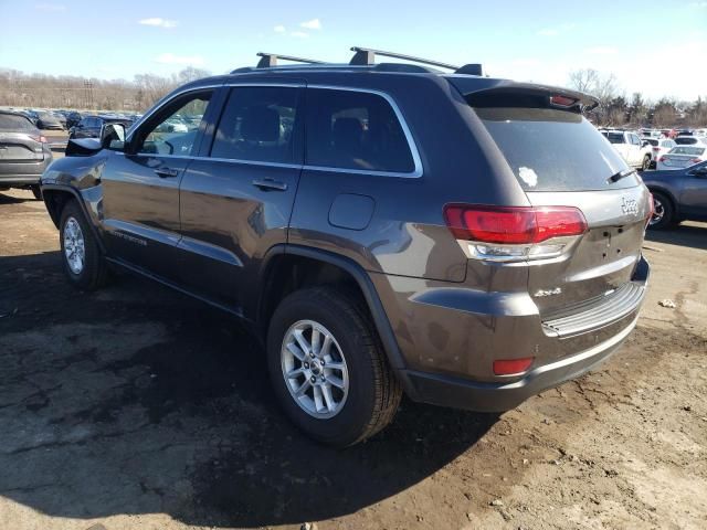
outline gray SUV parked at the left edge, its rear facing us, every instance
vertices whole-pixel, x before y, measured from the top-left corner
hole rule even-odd
[[[46,138],[27,116],[0,110],[0,190],[29,189],[40,199],[40,177],[51,161]]]

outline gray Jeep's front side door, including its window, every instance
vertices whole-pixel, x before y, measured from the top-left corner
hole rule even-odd
[[[108,255],[165,279],[177,277],[179,184],[203,137],[213,91],[178,96],[112,152],[103,170],[102,223]]]

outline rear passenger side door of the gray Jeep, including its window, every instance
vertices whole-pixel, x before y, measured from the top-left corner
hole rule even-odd
[[[304,83],[235,85],[180,186],[180,282],[241,310],[286,243],[303,165]]]

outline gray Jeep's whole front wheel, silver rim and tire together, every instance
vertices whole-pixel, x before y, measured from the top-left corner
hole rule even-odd
[[[75,201],[66,203],[60,222],[62,264],[68,280],[83,290],[105,285],[108,267],[84,213]]]

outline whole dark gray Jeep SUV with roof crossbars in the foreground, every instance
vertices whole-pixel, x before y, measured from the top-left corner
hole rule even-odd
[[[645,295],[651,199],[597,102],[355,51],[262,54],[70,142],[42,180],[68,280],[127,269],[243,319],[284,411],[335,446],[403,393],[505,411],[606,359]]]

